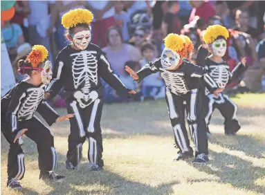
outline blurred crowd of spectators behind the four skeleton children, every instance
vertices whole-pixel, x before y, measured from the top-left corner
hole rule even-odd
[[[160,57],[163,38],[173,32],[188,35],[194,44],[192,60],[203,44],[201,34],[209,25],[228,28],[225,60],[232,70],[246,57],[248,70],[228,86],[231,93],[265,91],[265,1],[16,1],[15,16],[1,24],[3,39],[17,82],[17,62],[25,59],[31,46],[42,44],[55,62],[57,53],[67,46],[62,15],[74,8],[86,8],[94,15],[92,43],[100,46],[120,80],[138,93],[134,100],[120,97],[104,84],[106,102],[156,100],[164,97],[164,82],[159,73],[140,84],[125,71],[140,70]],[[63,93],[54,106],[64,106]]]

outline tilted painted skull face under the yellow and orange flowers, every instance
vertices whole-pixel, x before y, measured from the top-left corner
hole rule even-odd
[[[163,53],[161,55],[161,64],[162,67],[171,70],[176,68],[179,64],[179,60],[181,59],[179,53],[170,50],[169,48],[164,48]]]

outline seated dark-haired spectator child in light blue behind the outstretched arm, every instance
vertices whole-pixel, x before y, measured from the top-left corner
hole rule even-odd
[[[148,42],[142,44],[141,53],[144,59],[140,60],[140,66],[143,68],[149,62],[154,62],[154,46]],[[154,73],[146,77],[142,82],[143,97],[146,99],[156,100],[157,98],[165,97],[164,82],[161,79],[160,73]]]

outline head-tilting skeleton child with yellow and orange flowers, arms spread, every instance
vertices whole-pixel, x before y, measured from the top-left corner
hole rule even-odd
[[[184,39],[176,34],[169,34],[165,37],[165,49],[160,58],[150,62],[138,73],[126,67],[126,71],[140,82],[144,77],[152,73],[161,72],[165,80],[165,93],[167,106],[170,113],[170,120],[174,130],[176,145],[180,151],[176,160],[193,157],[193,151],[188,140],[188,133],[185,128],[185,106],[187,102],[188,123],[191,129],[192,139],[195,145],[194,163],[205,163],[208,159],[208,139],[205,132],[205,120],[203,115],[203,91],[202,84],[205,84],[209,91],[217,94],[217,84],[207,71],[200,66],[191,64],[186,57]],[[201,78],[198,82],[198,78]]]

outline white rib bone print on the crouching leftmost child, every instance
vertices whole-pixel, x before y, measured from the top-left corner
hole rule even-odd
[[[44,85],[39,88],[30,88],[27,90],[27,93],[28,95],[17,113],[18,120],[33,118],[37,106],[44,100]]]

